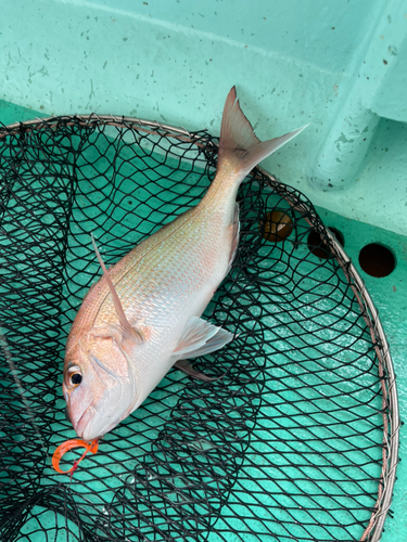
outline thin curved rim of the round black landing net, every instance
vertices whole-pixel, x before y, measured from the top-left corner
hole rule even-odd
[[[123,128],[128,126],[129,128],[137,128],[139,130],[145,131],[148,133],[160,133],[162,137],[173,137],[175,139],[186,140],[187,142],[194,143],[198,146],[205,146],[203,142],[217,149],[218,145],[216,141],[212,139],[206,129],[191,132],[181,127],[174,127],[171,125],[162,124],[155,120],[147,120],[137,117],[128,116],[115,116],[115,115],[99,115],[96,113],[89,115],[59,115],[49,117],[35,117],[34,119],[25,121],[16,121],[10,125],[3,125],[0,122],[0,140],[5,139],[9,136],[16,134],[22,130],[31,131],[36,129],[53,129],[58,127],[59,124],[64,124],[68,126],[69,124],[77,124],[84,126],[114,126],[117,128]],[[164,133],[162,133],[164,132]],[[205,138],[205,132],[208,136]],[[310,212],[310,208],[305,205],[304,202],[301,205],[295,205],[290,199],[288,195],[288,184],[280,182],[277,178],[269,173],[266,169],[260,166],[256,166],[254,171],[260,172],[267,178],[267,182],[274,189],[281,192],[281,195],[288,201],[288,203],[298,210],[302,215],[308,214],[311,217],[309,222],[311,225],[316,225],[316,219],[318,215],[314,211]],[[385,375],[382,378],[382,396],[383,396],[383,466],[381,472],[381,477],[379,480],[379,492],[376,508],[370,517],[369,524],[360,538],[360,541],[370,540],[370,542],[380,542],[381,534],[383,532],[385,518],[390,511],[394,483],[396,480],[396,469],[398,465],[398,448],[399,448],[399,428],[400,428],[400,417],[398,408],[398,395],[396,387],[396,375],[394,372],[393,360],[390,353],[389,343],[385,337],[383,326],[379,318],[379,311],[376,308],[370,294],[368,293],[365,282],[357,271],[356,267],[352,262],[352,259],[347,256],[344,248],[336,241],[335,236],[326,229],[326,234],[329,237],[331,244],[331,251],[338,262],[341,264],[343,271],[349,281],[353,282],[352,289],[354,291],[355,297],[358,300],[361,312],[364,313],[364,319],[369,327],[372,341],[374,338],[379,339],[376,341],[374,349],[378,354],[379,360],[379,373],[385,369]],[[367,307],[370,314],[363,311],[363,304]],[[386,430],[386,422],[389,423],[389,431]],[[387,438],[389,433],[389,438]],[[387,452],[387,453],[386,453]],[[382,490],[381,490],[382,489]]]

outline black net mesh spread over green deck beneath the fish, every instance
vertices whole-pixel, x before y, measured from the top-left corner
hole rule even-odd
[[[313,205],[258,168],[238,195],[237,258],[205,311],[239,335],[194,361],[224,378],[170,371],[72,481],[51,467],[75,436],[62,366],[100,276],[90,232],[115,263],[196,205],[216,157],[206,132],[125,118],[0,129],[3,542],[380,537],[397,421],[378,319]],[[272,211],[291,222],[284,240],[265,234]]]

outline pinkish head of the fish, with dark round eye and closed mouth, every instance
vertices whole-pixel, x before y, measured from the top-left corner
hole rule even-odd
[[[139,395],[131,366],[112,337],[88,337],[66,349],[62,388],[78,437],[100,438],[130,414]]]

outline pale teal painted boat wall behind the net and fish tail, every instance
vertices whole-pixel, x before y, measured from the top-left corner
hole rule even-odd
[[[311,122],[266,168],[407,234],[406,14],[405,0],[3,0],[0,100],[218,133],[237,85],[260,139]]]

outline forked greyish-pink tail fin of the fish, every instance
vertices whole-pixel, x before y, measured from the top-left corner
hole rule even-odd
[[[243,114],[239,100],[237,100],[236,87],[233,87],[226,99],[221,117],[217,170],[220,170],[225,160],[231,159],[238,166],[239,179],[243,180],[260,160],[295,138],[307,126],[285,133],[280,138],[260,141]]]

